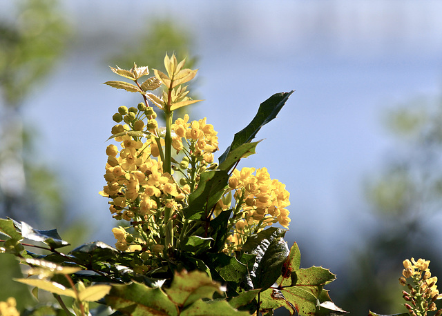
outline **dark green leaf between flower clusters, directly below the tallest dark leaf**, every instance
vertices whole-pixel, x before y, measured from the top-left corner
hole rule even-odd
[[[186,219],[205,219],[220,200],[229,174],[224,170],[202,172],[198,188],[189,195],[189,206],[183,209]]]

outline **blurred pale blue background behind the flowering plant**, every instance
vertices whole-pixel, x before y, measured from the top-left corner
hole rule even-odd
[[[105,184],[106,139],[117,108],[140,100],[102,83],[118,80],[108,58],[130,50],[149,19],[172,18],[194,34],[204,101],[191,119],[207,117],[220,152],[260,102],[296,90],[258,133],[257,155],[240,166],[265,166],[287,185],[287,239],[302,241],[301,253],[314,249],[317,266],[338,266],[374,224],[363,181],[394,144],[385,111],[441,92],[440,1],[61,3],[75,36],[24,115],[41,124],[41,155],[61,174],[73,216],[86,217],[93,238],[108,244],[115,223],[97,193]]]

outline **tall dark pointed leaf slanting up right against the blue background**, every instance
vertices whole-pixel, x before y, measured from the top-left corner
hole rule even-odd
[[[281,92],[272,95],[266,101],[260,104],[260,108],[258,109],[258,113],[256,113],[255,117],[253,117],[252,121],[248,126],[244,129],[240,130],[233,137],[232,144],[227,148],[227,150],[220,156],[220,164],[227,158],[229,152],[235,150],[242,144],[249,143],[256,136],[258,131],[265,126],[265,124],[269,123],[272,119],[278,115],[278,112],[281,110],[282,106],[284,106],[289,96],[294,91],[290,92]]]

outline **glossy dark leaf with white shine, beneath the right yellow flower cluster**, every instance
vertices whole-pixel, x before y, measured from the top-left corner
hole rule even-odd
[[[287,242],[283,239],[286,232],[280,228],[267,228],[251,235],[242,246],[243,253],[256,255],[249,276],[253,288],[269,288],[280,277],[282,265],[289,255]]]

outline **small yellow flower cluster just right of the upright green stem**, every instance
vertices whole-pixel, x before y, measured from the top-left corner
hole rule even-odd
[[[211,164],[213,152],[218,150],[218,132],[213,130],[212,124],[206,124],[206,117],[199,121],[189,123],[189,115],[179,118],[172,125],[175,136],[172,138],[172,146],[180,152],[184,148],[183,139],[188,144],[192,155],[204,156],[204,160]]]

